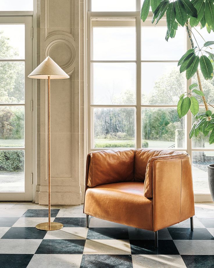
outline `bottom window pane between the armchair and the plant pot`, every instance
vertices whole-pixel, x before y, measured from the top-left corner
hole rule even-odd
[[[192,152],[192,180],[194,193],[210,194],[207,165],[214,163],[213,151]]]

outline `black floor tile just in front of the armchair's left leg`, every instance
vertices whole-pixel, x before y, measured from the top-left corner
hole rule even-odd
[[[87,239],[129,239],[128,228],[89,228]]]

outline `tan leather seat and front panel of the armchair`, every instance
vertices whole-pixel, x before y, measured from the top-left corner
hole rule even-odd
[[[152,199],[143,182],[119,182],[87,188],[84,213],[96,218],[153,230]]]

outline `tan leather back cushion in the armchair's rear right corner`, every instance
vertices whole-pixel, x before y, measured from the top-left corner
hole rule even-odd
[[[156,150],[156,149],[136,149],[135,150],[135,165],[134,165],[134,180],[145,181],[147,164],[150,158],[155,156],[175,154],[172,150]]]

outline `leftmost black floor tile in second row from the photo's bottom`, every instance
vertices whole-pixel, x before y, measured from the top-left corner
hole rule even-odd
[[[35,254],[83,254],[85,239],[44,239]]]

